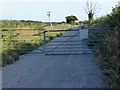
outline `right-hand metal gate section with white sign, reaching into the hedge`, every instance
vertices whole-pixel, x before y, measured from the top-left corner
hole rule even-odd
[[[81,29],[79,27],[71,30],[49,31],[49,33],[62,31],[66,33],[46,43],[44,52],[46,55],[93,54],[93,47],[96,48],[101,45],[102,38],[104,38],[104,31],[108,29],[111,28]]]

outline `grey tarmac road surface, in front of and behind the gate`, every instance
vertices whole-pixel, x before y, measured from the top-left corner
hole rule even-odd
[[[79,29],[79,28],[76,28]],[[67,32],[72,35],[77,32]],[[68,39],[67,37],[65,40]],[[70,40],[78,40],[72,38]],[[63,40],[58,37],[54,40]],[[53,41],[54,41],[53,40]],[[82,42],[82,39],[79,39]],[[50,44],[49,42],[48,44]],[[72,43],[72,42],[70,42]],[[48,45],[46,44],[46,45]],[[56,42],[58,46],[59,42]],[[62,45],[65,46],[66,43]],[[56,47],[56,46],[53,46]],[[48,46],[46,46],[48,47]],[[62,47],[62,46],[61,46]],[[68,47],[68,46],[67,46]],[[76,46],[73,46],[76,47]],[[86,52],[91,50],[86,47]],[[60,48],[52,50],[55,54]],[[77,53],[81,53],[78,49]],[[70,53],[70,51],[65,51]],[[64,49],[60,53],[65,53]],[[60,54],[59,52],[57,52]],[[74,51],[75,53],[75,51]],[[14,64],[3,68],[3,88],[103,88],[104,77],[93,54],[79,55],[25,54]]]

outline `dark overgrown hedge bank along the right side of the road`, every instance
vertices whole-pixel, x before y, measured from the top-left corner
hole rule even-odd
[[[111,30],[103,30],[104,37],[98,38],[102,39],[102,42],[95,50],[98,64],[106,76],[104,81],[107,87],[120,88],[120,59],[118,56],[120,53],[120,7],[113,8],[111,14],[94,20],[92,26],[112,28]],[[101,31],[96,32],[101,33]],[[91,37],[89,39],[94,40]]]

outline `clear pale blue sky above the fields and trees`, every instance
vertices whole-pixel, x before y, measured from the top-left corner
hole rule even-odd
[[[93,0],[92,0],[93,1]],[[119,0],[94,0],[100,10],[94,18],[112,12]],[[47,12],[51,12],[51,22],[65,21],[66,16],[75,15],[79,21],[88,19],[84,10],[86,0],[1,0],[0,19],[49,21]]]

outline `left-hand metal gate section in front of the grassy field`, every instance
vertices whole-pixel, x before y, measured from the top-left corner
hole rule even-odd
[[[37,29],[0,29],[3,50],[19,54],[44,53],[39,48],[45,44],[45,25]]]

